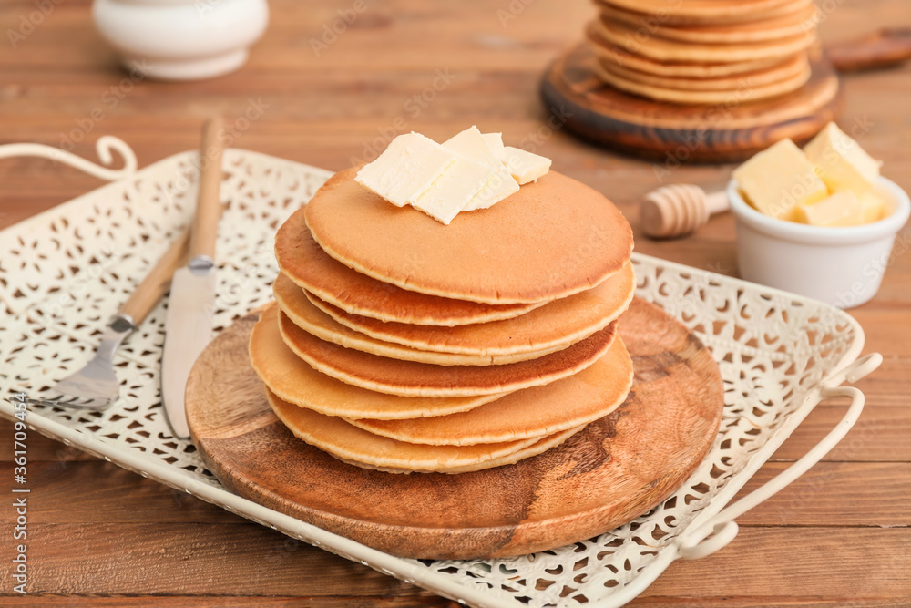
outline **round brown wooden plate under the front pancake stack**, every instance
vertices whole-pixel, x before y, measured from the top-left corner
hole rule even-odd
[[[187,417],[202,458],[245,498],[402,557],[505,557],[609,531],[670,496],[721,422],[711,353],[635,300],[619,321],[636,370],[630,397],[563,445],[459,475],[361,469],[293,437],[272,414],[247,357],[256,316],[222,332],[190,374]]]

